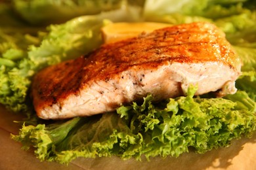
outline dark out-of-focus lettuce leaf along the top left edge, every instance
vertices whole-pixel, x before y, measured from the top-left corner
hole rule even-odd
[[[23,20],[33,25],[60,24],[77,16],[99,14],[102,11],[119,9],[119,0],[60,0],[60,1],[13,1],[14,10]]]

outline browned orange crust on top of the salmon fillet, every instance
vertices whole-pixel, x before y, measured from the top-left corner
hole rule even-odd
[[[238,56],[215,25],[199,22],[158,29],[147,35],[103,44],[77,59],[43,69],[33,79],[32,96],[37,114],[57,101],[98,80],[108,81],[118,73],[137,67],[154,69],[172,62],[222,62],[238,67]],[[60,105],[61,107],[61,105]]]

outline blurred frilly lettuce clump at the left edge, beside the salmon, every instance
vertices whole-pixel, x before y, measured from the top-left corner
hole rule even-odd
[[[33,70],[27,48],[37,46],[40,37],[17,32],[6,33],[0,28],[0,103],[13,111],[27,110],[25,103]]]

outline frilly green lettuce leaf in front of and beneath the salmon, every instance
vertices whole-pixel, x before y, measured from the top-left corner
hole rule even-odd
[[[255,131],[256,105],[246,93],[193,98],[196,90],[190,87],[188,96],[161,104],[148,95],[142,104],[121,106],[117,113],[23,126],[12,139],[26,149],[33,146],[40,160],[69,163],[78,157],[179,156],[190,147],[202,154]]]

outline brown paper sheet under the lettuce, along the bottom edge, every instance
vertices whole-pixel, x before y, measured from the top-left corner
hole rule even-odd
[[[179,158],[152,158],[150,161],[126,160],[119,158],[78,158],[69,165],[39,161],[32,151],[24,151],[21,144],[10,138],[18,134],[20,125],[14,120],[22,120],[19,114],[8,112],[0,105],[0,169],[256,169],[256,133],[251,139],[232,141],[227,148],[218,148],[196,154],[182,154]]]

